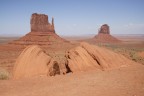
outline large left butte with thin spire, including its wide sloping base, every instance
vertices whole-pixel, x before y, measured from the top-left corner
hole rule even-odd
[[[54,18],[49,23],[48,15],[33,13],[30,20],[31,32],[9,44],[15,45],[52,45],[69,43],[55,32]]]

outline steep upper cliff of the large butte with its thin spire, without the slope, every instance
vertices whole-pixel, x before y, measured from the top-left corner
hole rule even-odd
[[[54,18],[52,23],[48,21],[48,15],[33,13],[31,16],[31,32],[54,32]]]

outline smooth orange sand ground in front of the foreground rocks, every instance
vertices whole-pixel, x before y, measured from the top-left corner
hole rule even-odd
[[[0,81],[0,96],[144,96],[144,66]]]

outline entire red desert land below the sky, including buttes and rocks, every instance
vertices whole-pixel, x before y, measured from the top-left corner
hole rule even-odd
[[[144,35],[59,36],[33,13],[30,32],[0,38],[0,96],[144,96]]]

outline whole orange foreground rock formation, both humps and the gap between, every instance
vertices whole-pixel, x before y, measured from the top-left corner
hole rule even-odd
[[[55,76],[69,72],[90,70],[109,70],[126,67],[134,62],[121,54],[108,49],[81,43],[65,54],[65,60],[59,62],[46,54],[38,45],[30,45],[17,58],[13,78],[29,78],[33,76]]]

